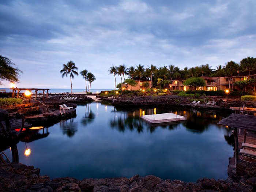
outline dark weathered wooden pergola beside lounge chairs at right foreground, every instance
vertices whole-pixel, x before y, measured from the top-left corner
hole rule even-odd
[[[235,135],[235,165],[238,162],[239,148],[238,148],[238,132],[237,129],[244,129],[243,142],[246,143],[246,131],[256,132],[256,116],[243,115],[243,114],[231,114],[227,118],[222,118],[219,121],[220,125],[228,126],[234,129]]]

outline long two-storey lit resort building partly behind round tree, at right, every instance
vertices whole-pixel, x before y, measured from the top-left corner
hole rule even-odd
[[[250,71],[251,78],[256,79],[256,70]],[[196,87],[196,90],[205,90],[205,91],[218,91],[218,90],[226,90],[226,89],[236,89],[242,90],[241,87],[233,86],[233,84],[237,81],[248,80],[249,79],[249,71],[246,72],[237,72],[235,76],[226,76],[226,77],[207,77],[201,76],[205,80],[206,86],[204,87]],[[179,90],[186,91],[189,89],[188,86],[184,86],[183,82],[185,80],[172,80],[169,83],[169,90]],[[254,90],[256,89],[256,85],[246,86],[245,90]]]

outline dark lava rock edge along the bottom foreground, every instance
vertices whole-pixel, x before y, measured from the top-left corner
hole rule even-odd
[[[78,180],[64,177],[50,180],[40,176],[40,169],[21,163],[0,166],[0,191],[10,192],[180,192],[180,191],[244,191],[256,190],[256,163],[239,162],[237,171],[229,173],[227,180],[216,181],[211,178],[198,179],[196,182],[162,180],[148,175],[131,178],[85,178]]]

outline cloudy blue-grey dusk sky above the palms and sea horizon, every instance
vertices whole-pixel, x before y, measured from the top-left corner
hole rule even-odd
[[[23,71],[20,88],[70,88],[60,70],[71,60],[95,75],[91,89],[113,89],[112,65],[216,68],[256,57],[255,10],[255,0],[1,0],[0,55]]]

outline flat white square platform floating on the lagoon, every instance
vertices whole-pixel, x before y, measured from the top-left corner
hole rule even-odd
[[[187,120],[187,117],[174,114],[174,113],[143,115],[141,118],[143,118],[145,121],[148,121],[150,123],[166,123],[166,122]]]

